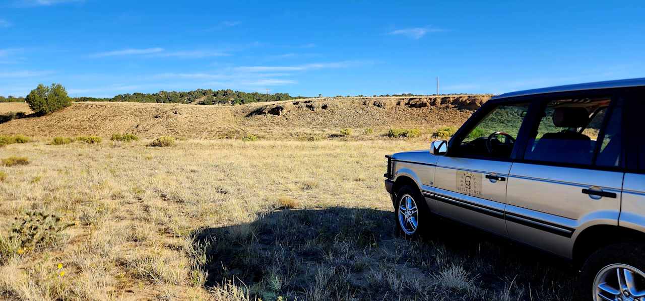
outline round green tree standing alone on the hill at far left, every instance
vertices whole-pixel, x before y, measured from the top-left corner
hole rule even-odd
[[[72,99],[67,96],[63,85],[55,83],[52,86],[39,84],[29,92],[25,101],[37,115],[52,113],[72,104]]]

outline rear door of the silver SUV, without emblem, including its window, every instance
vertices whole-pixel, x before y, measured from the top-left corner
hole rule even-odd
[[[506,193],[510,238],[571,257],[579,229],[617,225],[622,189],[622,101],[566,97],[535,110]]]

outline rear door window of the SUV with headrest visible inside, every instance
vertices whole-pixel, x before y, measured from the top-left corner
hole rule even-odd
[[[622,117],[617,106],[605,121],[610,102],[608,97],[548,102],[541,111],[537,130],[529,137],[524,159],[591,165],[597,152],[596,164],[617,166]]]

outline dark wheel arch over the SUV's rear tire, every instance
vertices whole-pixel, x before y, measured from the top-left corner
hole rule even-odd
[[[614,225],[595,225],[582,230],[573,243],[573,262],[581,267],[594,251],[625,241],[645,241],[645,233]]]

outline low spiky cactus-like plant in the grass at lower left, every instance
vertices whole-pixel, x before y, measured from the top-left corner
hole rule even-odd
[[[63,222],[55,213],[26,211],[23,217],[15,219],[10,238],[21,240],[26,248],[52,246],[59,242],[63,230],[73,225]]]

